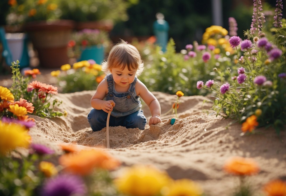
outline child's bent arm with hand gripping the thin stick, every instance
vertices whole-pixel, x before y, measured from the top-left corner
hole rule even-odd
[[[114,101],[109,100],[109,101],[104,101],[104,97],[107,94],[108,91],[108,84],[106,80],[103,80],[99,83],[95,94],[92,96],[90,100],[90,104],[94,109],[102,109],[105,112],[109,112],[110,110],[112,111],[113,107],[115,106]],[[113,103],[113,105],[111,105]]]

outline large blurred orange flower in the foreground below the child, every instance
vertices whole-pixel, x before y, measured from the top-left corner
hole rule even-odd
[[[61,155],[59,163],[65,171],[77,175],[88,175],[96,167],[113,170],[120,165],[117,159],[100,149],[81,150]]]

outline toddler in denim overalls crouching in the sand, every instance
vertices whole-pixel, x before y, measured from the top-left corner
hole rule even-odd
[[[88,114],[93,131],[106,127],[110,110],[109,126],[143,130],[147,120],[141,109],[140,97],[151,111],[149,125],[161,122],[158,100],[136,77],[143,71],[143,61],[136,47],[121,40],[111,49],[102,69],[107,75],[91,98],[93,109]]]

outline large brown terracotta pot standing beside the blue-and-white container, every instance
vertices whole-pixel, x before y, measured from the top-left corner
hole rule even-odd
[[[71,39],[74,21],[37,21],[25,25],[33,46],[38,52],[40,66],[59,68],[69,63],[67,43]]]

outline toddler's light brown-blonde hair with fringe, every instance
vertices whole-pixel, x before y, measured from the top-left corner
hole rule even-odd
[[[102,70],[108,74],[110,69],[114,67],[123,66],[123,70],[127,66],[129,71],[137,69],[136,75],[140,75],[144,69],[144,64],[139,51],[135,46],[120,40],[110,50],[107,60],[102,63]]]

